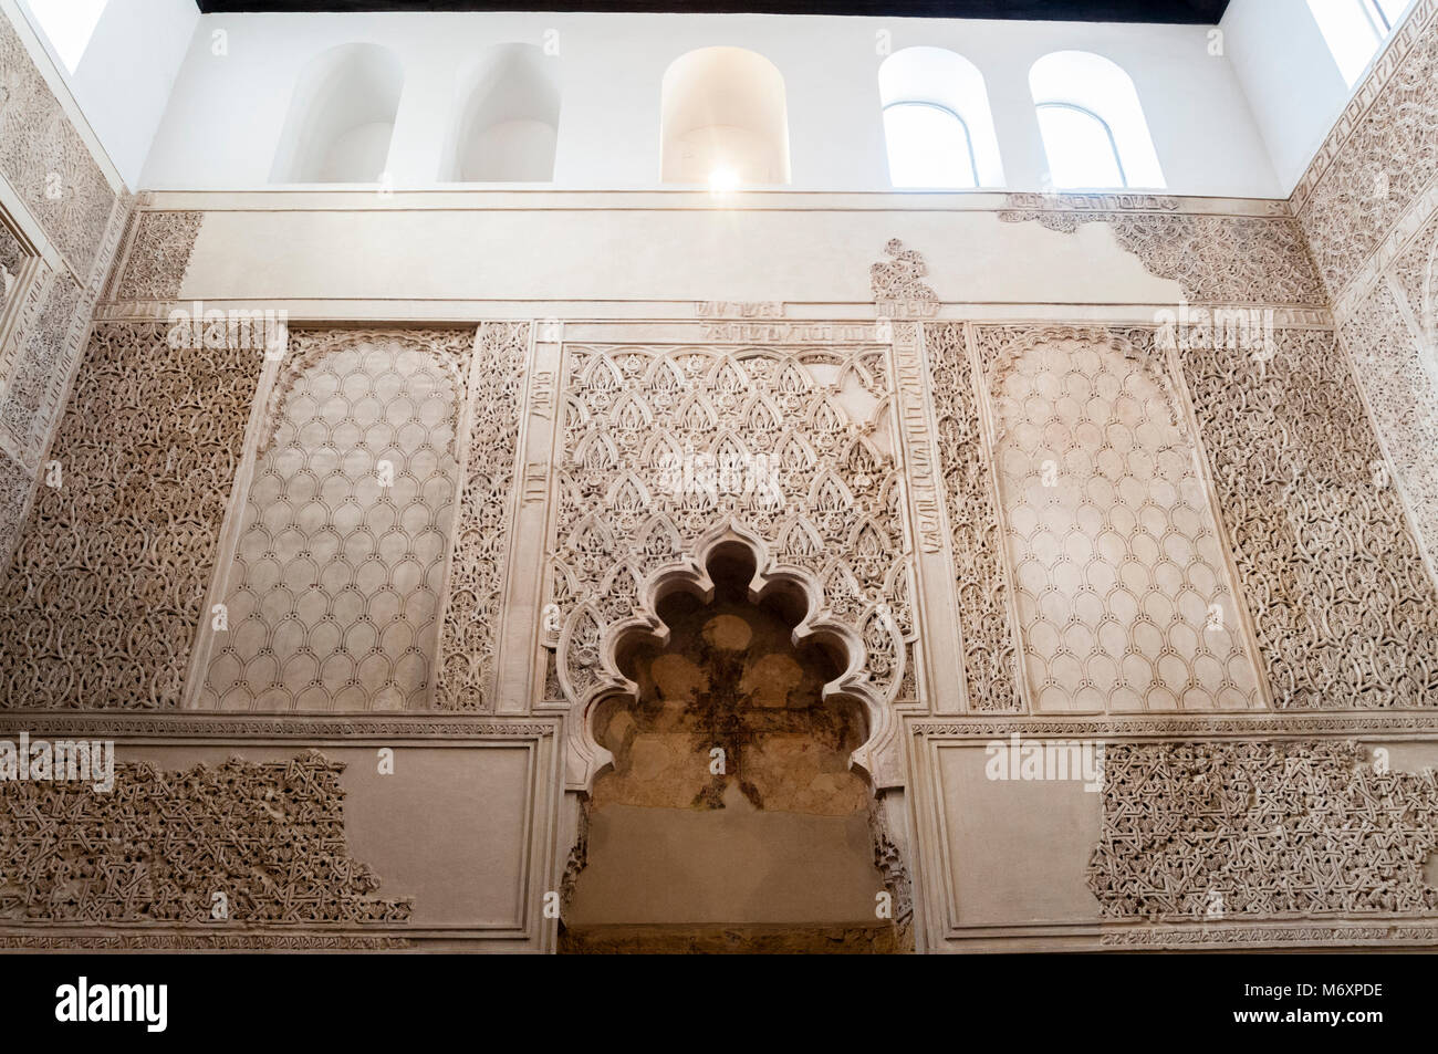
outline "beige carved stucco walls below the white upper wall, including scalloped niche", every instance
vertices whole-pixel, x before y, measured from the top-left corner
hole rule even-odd
[[[7,221],[0,943],[1438,943],[1435,6],[1291,203]]]

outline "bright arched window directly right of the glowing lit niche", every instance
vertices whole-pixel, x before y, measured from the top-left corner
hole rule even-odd
[[[894,187],[999,187],[1004,165],[984,75],[943,47],[906,47],[879,68]]]

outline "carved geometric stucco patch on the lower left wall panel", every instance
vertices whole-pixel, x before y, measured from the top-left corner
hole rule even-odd
[[[413,902],[371,896],[378,876],[348,853],[342,771],[311,751],[181,771],[118,762],[109,792],[3,782],[0,920],[211,923],[220,893],[234,923],[407,922]]]

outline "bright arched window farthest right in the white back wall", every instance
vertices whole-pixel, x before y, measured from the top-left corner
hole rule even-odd
[[[1163,187],[1133,81],[1090,52],[1054,52],[1028,70],[1048,180],[1058,190]]]

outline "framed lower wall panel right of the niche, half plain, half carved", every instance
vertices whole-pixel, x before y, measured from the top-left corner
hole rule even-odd
[[[912,723],[928,950],[1438,940],[1438,735],[1214,729]]]

